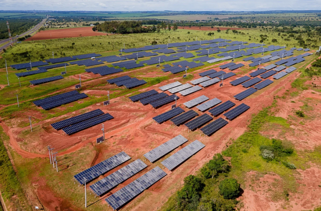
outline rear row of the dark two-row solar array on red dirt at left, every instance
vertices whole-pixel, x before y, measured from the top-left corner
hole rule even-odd
[[[87,120],[87,119],[90,119],[92,117],[99,116],[102,114],[104,114],[104,112],[102,112],[100,109],[96,109],[96,110],[89,111],[87,113],[80,114],[80,115],[59,121],[59,122],[52,123],[51,126],[53,128],[55,128],[56,130],[60,130],[64,127],[70,126],[72,124],[76,124],[78,122],[81,122],[81,121],[84,121],[84,120]]]

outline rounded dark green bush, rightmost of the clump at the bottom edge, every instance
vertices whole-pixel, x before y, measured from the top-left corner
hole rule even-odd
[[[223,195],[225,199],[233,199],[240,192],[240,184],[234,178],[224,179],[220,182],[219,193]]]

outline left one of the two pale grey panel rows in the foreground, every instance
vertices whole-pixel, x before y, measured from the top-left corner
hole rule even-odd
[[[188,140],[184,136],[178,135],[172,138],[171,140],[165,142],[164,144],[159,145],[156,148],[150,150],[149,152],[144,154],[144,157],[148,159],[150,162],[155,162],[159,158],[165,156],[166,154],[173,151],[182,144],[186,143],[187,141]]]

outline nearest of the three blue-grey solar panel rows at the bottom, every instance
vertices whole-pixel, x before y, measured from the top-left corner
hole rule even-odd
[[[167,173],[157,166],[107,197],[105,201],[114,210],[118,209],[166,175]]]

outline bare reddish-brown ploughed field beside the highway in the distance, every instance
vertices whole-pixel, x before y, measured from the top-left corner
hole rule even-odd
[[[89,37],[106,35],[103,32],[94,32],[91,27],[78,27],[70,29],[55,29],[37,32],[36,35],[28,38],[26,41],[34,40],[51,40],[58,38],[76,38],[76,37]]]

